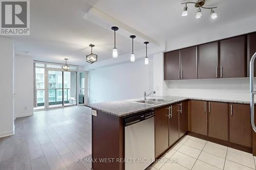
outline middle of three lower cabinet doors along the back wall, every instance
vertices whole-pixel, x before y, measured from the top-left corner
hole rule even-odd
[[[228,141],[228,103],[208,102],[208,136]]]

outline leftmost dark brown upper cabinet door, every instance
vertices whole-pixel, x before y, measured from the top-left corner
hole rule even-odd
[[[164,80],[180,79],[180,51],[164,53]]]

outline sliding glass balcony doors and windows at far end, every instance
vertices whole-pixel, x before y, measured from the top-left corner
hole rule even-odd
[[[84,105],[88,102],[88,74],[71,66],[63,71],[61,65],[34,64],[34,110]]]

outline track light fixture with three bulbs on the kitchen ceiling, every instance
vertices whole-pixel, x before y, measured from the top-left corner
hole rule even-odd
[[[197,2],[181,3],[181,4],[185,4],[184,10],[181,15],[187,16],[187,4],[195,4],[195,7],[198,8],[197,14],[196,14],[197,19],[202,17],[201,8],[210,9],[210,18],[216,19],[218,15],[214,12],[214,9],[217,7],[203,7],[204,3],[205,3],[205,0],[198,0]]]

